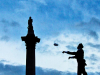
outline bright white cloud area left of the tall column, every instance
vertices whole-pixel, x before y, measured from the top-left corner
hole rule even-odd
[[[23,44],[22,44],[23,43]],[[5,41],[0,40],[0,61],[6,60],[9,62],[3,62],[5,64],[24,64],[25,65],[25,43],[21,41]],[[22,60],[22,61],[21,61]]]

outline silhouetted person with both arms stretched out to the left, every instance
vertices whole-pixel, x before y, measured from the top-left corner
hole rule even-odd
[[[62,52],[62,53],[75,55],[75,56],[69,57],[68,59],[70,59],[70,58],[77,59],[77,63],[78,63],[77,75],[81,75],[82,73],[83,73],[83,75],[87,75],[87,72],[85,71],[85,66],[87,64],[86,64],[86,61],[84,59],[84,51],[82,48],[83,48],[83,45],[82,45],[82,43],[80,43],[77,47],[77,49],[78,49],[77,52],[70,52],[70,51],[63,51]]]

